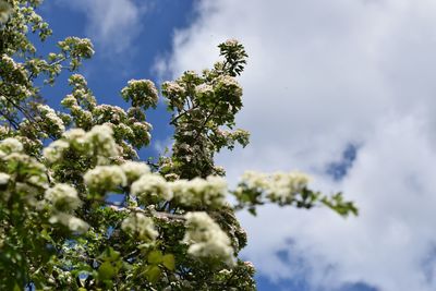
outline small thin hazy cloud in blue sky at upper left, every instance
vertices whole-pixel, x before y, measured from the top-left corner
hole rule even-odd
[[[106,52],[120,54],[130,48],[143,28],[141,17],[147,7],[134,0],[58,0],[87,16],[87,34]],[[131,48],[130,48],[131,50]]]

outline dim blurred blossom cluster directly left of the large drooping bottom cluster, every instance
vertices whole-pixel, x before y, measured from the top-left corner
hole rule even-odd
[[[141,213],[131,214],[121,223],[121,229],[134,237],[135,234],[144,241],[154,241],[159,234],[152,218]]]

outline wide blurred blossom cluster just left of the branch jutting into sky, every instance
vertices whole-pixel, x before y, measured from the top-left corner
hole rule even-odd
[[[227,182],[221,177],[209,175],[206,180],[195,178],[191,181],[177,180],[170,183],[174,199],[178,203],[220,207],[226,203]]]

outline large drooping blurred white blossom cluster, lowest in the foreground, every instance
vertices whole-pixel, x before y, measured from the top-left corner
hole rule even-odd
[[[230,239],[206,213],[187,213],[186,232],[183,242],[187,253],[199,258],[218,258],[229,266],[234,265],[234,251]]]

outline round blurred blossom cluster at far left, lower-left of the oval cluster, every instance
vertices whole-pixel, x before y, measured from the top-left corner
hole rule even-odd
[[[51,202],[58,209],[74,210],[82,204],[77,196],[77,191],[70,185],[62,183],[48,189],[44,197]]]

